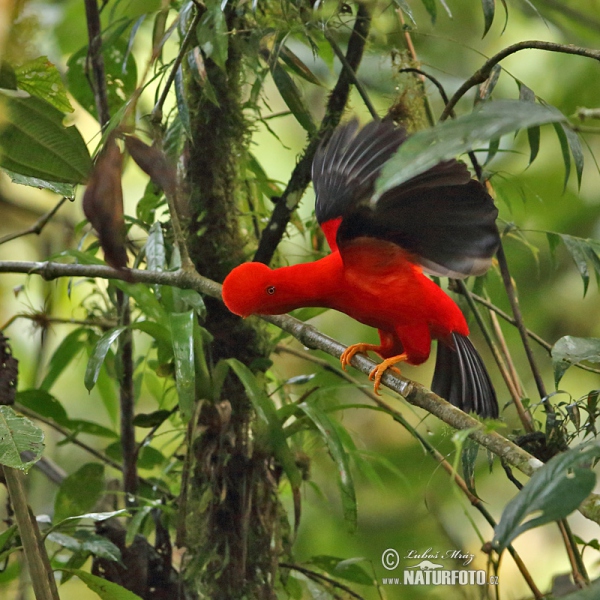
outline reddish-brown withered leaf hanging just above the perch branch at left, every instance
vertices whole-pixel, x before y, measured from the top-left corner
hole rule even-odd
[[[94,165],[83,196],[83,212],[98,233],[106,262],[115,269],[127,266],[122,168],[123,154],[111,134]]]

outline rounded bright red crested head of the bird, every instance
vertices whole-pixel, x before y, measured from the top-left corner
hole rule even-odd
[[[236,267],[223,282],[223,302],[234,314],[274,314],[273,300],[277,288],[272,269],[263,263],[250,262]]]

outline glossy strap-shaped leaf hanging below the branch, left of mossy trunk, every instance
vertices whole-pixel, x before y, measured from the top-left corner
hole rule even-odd
[[[192,418],[196,401],[196,372],[194,368],[194,311],[170,315],[175,357],[175,384],[179,397],[181,418]]]

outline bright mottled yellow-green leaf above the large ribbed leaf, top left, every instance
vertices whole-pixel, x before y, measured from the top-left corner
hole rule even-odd
[[[60,73],[47,56],[28,60],[15,69],[15,75],[19,89],[49,102],[61,112],[73,112]]]

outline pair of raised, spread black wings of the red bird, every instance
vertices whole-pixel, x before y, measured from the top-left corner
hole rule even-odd
[[[434,275],[485,272],[500,242],[498,211],[467,167],[441,162],[373,204],[375,180],[407,134],[385,121],[357,130],[356,121],[338,128],[313,162],[317,220],[327,230],[328,221],[341,218],[335,241],[342,256],[349,242],[376,238],[400,246]]]

